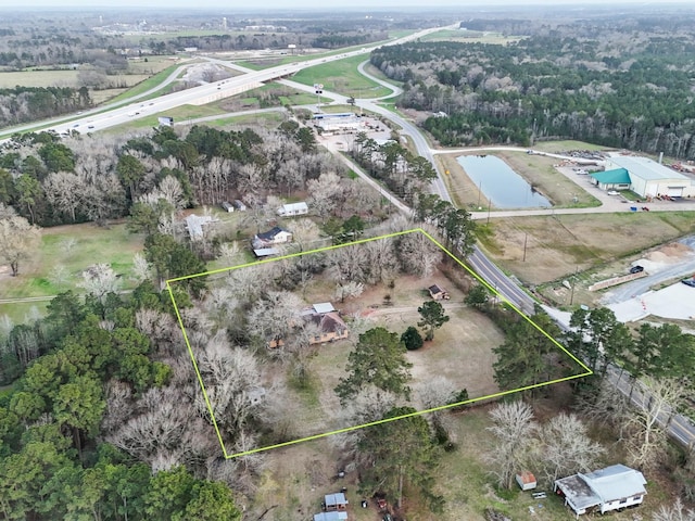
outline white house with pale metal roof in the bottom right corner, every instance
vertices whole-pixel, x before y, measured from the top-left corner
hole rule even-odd
[[[589,474],[555,480],[553,491],[565,497],[565,505],[579,518],[582,513],[605,513],[640,505],[647,493],[646,483],[642,472],[612,465]]]

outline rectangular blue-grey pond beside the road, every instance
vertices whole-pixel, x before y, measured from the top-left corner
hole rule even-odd
[[[547,208],[551,202],[531,190],[526,179],[494,155],[460,155],[456,158],[468,177],[495,208]],[[480,202],[486,206],[486,201]]]

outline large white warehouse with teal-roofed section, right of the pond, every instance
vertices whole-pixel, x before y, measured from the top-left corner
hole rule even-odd
[[[684,176],[648,157],[608,157],[606,169],[592,177],[604,190],[632,190],[643,198],[695,198],[695,177]]]

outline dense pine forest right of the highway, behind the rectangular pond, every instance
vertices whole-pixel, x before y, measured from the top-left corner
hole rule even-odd
[[[695,40],[640,22],[541,26],[505,46],[384,47],[371,63],[405,82],[404,106],[446,114],[425,123],[445,145],[572,138],[695,158]]]

